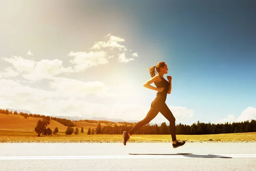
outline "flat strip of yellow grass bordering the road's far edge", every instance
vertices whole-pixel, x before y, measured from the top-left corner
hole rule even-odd
[[[0,131],[0,142],[122,142],[122,135],[65,135],[36,136],[30,132]],[[256,132],[209,135],[177,135],[187,142],[256,142]],[[133,135],[129,142],[171,142],[171,135]]]

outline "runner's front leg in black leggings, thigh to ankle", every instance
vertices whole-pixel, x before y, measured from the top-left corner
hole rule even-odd
[[[171,110],[166,105],[166,103],[163,103],[160,107],[160,113],[170,122],[170,133],[172,135],[172,141],[177,141],[176,139],[176,128],[175,128],[175,117],[173,116]]]

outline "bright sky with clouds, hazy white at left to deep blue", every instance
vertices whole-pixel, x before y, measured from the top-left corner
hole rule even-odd
[[[0,108],[142,120],[172,76],[176,123],[256,119],[254,0],[0,1]],[[154,86],[154,84],[152,84]],[[167,122],[161,113],[152,123]]]

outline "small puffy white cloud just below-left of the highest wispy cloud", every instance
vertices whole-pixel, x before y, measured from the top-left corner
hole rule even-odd
[[[104,51],[98,51],[98,52],[91,51],[89,53],[71,51],[68,55],[74,57],[74,59],[70,60],[70,62],[76,65],[74,67],[76,71],[84,71],[93,66],[108,64],[109,61],[107,58],[112,57],[112,56],[108,57],[107,52],[104,52]]]

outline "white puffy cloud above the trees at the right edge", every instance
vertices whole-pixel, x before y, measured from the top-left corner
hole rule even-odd
[[[252,119],[256,119],[256,108],[247,107],[247,109],[245,109],[241,113],[241,115],[238,116],[237,118],[234,115],[229,115],[229,116],[227,116],[227,118],[219,119],[218,122],[219,123],[225,123],[225,122],[233,123],[233,122],[244,122],[246,120],[248,120],[250,122]]]

